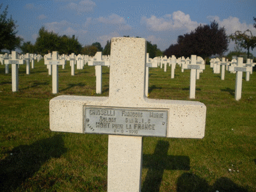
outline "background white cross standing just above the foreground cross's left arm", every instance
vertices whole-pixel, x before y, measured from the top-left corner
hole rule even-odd
[[[46,60],[46,65],[52,66],[52,93],[59,92],[58,65],[65,65],[66,60],[59,60],[58,51],[52,51],[52,59]]]

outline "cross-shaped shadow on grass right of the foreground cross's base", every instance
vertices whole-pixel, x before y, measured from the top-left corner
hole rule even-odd
[[[158,141],[154,154],[143,155],[143,168],[148,172],[141,191],[159,191],[164,170],[189,170],[188,156],[168,156],[168,141]]]

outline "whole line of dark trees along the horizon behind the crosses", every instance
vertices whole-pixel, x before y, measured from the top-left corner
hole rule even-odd
[[[0,10],[3,4],[0,5]],[[58,35],[53,31],[47,31],[44,26],[39,29],[38,37],[35,44],[31,42],[24,42],[22,38],[17,35],[17,22],[10,18],[8,15],[8,6],[1,12],[0,15],[0,51],[7,50],[9,52],[19,48],[22,53],[36,53],[47,54],[52,51],[58,51],[60,54],[87,54],[94,56],[97,51],[102,51],[102,54],[110,54],[111,41],[108,40],[104,49],[99,42],[95,42],[92,45],[81,45],[76,36]],[[256,28],[256,18],[253,17]],[[129,35],[127,36],[129,37]],[[138,37],[138,36],[137,36]],[[227,52],[228,43],[230,40],[235,41],[236,48],[233,54],[241,53],[240,48],[247,50],[247,55],[250,55],[250,49],[253,50],[256,47],[256,36],[252,35],[250,30],[246,30],[243,33],[236,31],[234,34],[227,36],[224,27],[220,28],[219,24],[214,20],[211,24],[198,26],[191,33],[179,35],[177,38],[177,44],[172,44],[165,51],[161,51],[157,48],[156,44],[147,42],[147,52],[150,58],[156,56],[172,56],[176,57],[185,56],[189,57],[191,54],[196,54],[202,58],[208,58],[212,55],[222,56]],[[231,54],[231,52],[230,52]]]

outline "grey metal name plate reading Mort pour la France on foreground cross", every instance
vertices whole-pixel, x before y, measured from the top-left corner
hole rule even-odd
[[[84,133],[166,137],[164,109],[84,106]]]

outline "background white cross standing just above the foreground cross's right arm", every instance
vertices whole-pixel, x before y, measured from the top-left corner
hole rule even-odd
[[[201,61],[200,61],[201,63]],[[191,55],[191,63],[190,64],[183,64],[182,68],[191,69],[190,70],[190,86],[189,86],[189,98],[195,99],[195,92],[196,92],[196,70],[203,70],[205,69],[205,65],[198,65],[196,63],[196,55]]]

